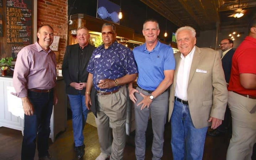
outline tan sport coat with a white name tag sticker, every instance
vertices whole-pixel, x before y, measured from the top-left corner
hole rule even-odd
[[[196,128],[211,125],[210,116],[223,120],[228,100],[228,90],[218,51],[198,48],[191,64],[188,79],[188,106],[193,125]],[[170,87],[169,120],[174,108],[175,86],[181,53],[176,53],[174,83]]]

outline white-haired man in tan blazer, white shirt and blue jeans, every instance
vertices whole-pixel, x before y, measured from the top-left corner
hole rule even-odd
[[[176,31],[174,83],[171,85],[169,120],[174,160],[200,160],[208,126],[217,128],[224,118],[228,91],[218,51],[198,48],[196,31]]]

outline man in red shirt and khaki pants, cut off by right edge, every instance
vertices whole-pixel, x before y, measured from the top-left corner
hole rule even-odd
[[[229,81],[228,106],[233,134],[227,160],[251,159],[256,142],[256,18],[249,24],[249,36],[236,49]]]

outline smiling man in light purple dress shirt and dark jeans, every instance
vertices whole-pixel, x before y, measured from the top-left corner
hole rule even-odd
[[[36,137],[39,160],[52,159],[48,153],[50,117],[57,104],[56,56],[49,46],[53,42],[53,28],[39,27],[38,42],[24,47],[17,55],[13,84],[16,96],[24,109],[24,136],[21,160],[33,160]]]

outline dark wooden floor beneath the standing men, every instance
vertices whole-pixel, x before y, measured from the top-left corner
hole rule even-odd
[[[172,160],[171,151],[171,129],[170,124],[166,124],[164,155],[162,160]],[[147,132],[150,133],[150,132]],[[151,134],[147,134],[146,160],[151,159]],[[84,129],[85,155],[84,160],[95,160],[100,154],[100,146],[98,144],[97,128],[86,124]],[[0,160],[20,160],[21,155],[22,134],[21,131],[15,129],[0,127]],[[68,128],[65,132],[58,134],[55,142],[49,139],[49,152],[58,160],[75,160],[75,151],[73,148],[73,131],[72,121],[68,120]],[[203,160],[225,160],[226,150],[228,148],[228,136],[208,137],[204,147]],[[124,149],[124,160],[135,160],[134,151],[134,133],[127,137],[127,144]],[[37,160],[37,153],[35,160]],[[255,160],[254,155],[252,160]]]

